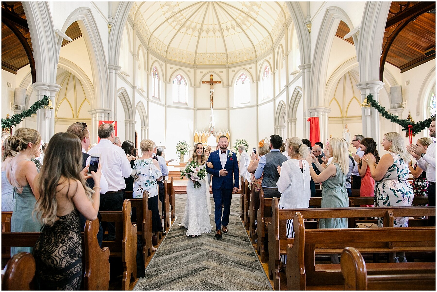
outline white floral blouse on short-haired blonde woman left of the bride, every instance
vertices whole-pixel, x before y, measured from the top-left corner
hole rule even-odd
[[[149,192],[149,198],[158,196],[159,188],[156,179],[162,176],[159,168],[153,164],[152,158],[136,159],[132,166],[134,178],[133,198],[142,198],[144,191]]]

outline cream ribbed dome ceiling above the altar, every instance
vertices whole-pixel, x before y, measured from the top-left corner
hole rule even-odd
[[[130,16],[163,57],[225,65],[269,50],[289,13],[285,2],[136,2]]]

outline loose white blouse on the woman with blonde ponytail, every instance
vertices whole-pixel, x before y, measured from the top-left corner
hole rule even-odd
[[[311,197],[309,164],[302,160],[303,172],[299,160],[290,159],[282,163],[281,175],[277,181],[277,190],[282,193],[279,205],[285,209],[308,208]]]

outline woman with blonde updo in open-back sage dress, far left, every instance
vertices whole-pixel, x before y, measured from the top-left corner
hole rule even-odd
[[[14,136],[7,139],[10,150],[17,152],[6,169],[6,177],[14,187],[15,206],[10,220],[11,232],[39,232],[41,223],[33,216],[36,198],[35,177],[38,168],[31,158],[41,143],[38,131],[30,128],[15,130]],[[33,247],[11,247],[10,256],[21,251],[32,253]]]

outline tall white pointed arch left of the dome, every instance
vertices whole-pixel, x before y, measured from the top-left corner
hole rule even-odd
[[[80,7],[74,10],[69,17],[67,17],[64,25],[62,26],[62,31],[66,31],[70,24],[75,21],[77,21],[77,24],[79,24],[79,28],[82,31],[83,38],[85,40],[85,44],[87,45],[90,56],[91,71],[93,73],[94,96],[96,98],[95,106],[109,108],[110,101],[107,98],[109,96],[108,63],[106,62],[106,56],[103,42],[100,37],[100,32],[90,8]],[[62,39],[59,38],[59,50],[61,45]]]

